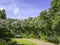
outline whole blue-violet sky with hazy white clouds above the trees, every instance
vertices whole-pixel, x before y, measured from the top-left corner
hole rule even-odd
[[[50,3],[51,0],[0,0],[0,9],[5,9],[7,18],[26,19],[48,10]]]

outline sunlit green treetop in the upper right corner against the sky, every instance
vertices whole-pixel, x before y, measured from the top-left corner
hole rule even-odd
[[[54,13],[60,11],[60,0],[52,0],[50,9]]]

